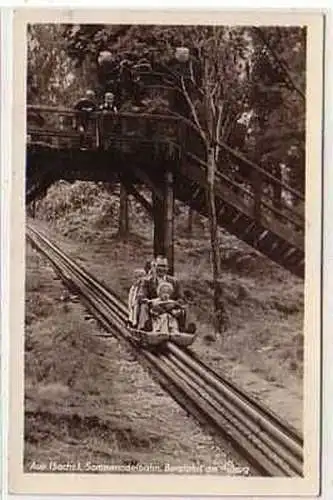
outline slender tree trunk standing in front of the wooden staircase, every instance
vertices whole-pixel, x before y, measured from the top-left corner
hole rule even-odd
[[[210,147],[208,149],[207,202],[213,266],[214,327],[215,332],[221,334],[225,327],[226,312],[221,286],[221,258],[215,206],[215,170],[215,149]]]

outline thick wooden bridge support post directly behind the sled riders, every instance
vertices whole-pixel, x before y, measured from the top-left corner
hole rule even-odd
[[[168,259],[170,273],[174,272],[174,179],[166,171],[161,182],[163,199],[152,193],[154,216],[154,256]]]

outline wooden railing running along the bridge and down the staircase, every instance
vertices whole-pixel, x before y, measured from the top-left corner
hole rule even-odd
[[[82,112],[51,106],[28,106],[28,135],[58,148],[80,146],[78,123]],[[205,145],[194,123],[178,115],[141,112],[89,114],[86,139],[91,149],[120,148],[123,152],[147,147],[156,157],[192,157],[207,169]],[[229,186],[251,207],[253,217],[278,220],[296,232],[304,231],[304,195],[260,165],[219,143],[218,181]]]

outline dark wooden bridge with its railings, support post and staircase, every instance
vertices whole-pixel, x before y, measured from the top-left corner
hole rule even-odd
[[[82,144],[78,119],[73,110],[28,106],[27,202],[59,179],[121,181],[153,217],[155,254],[173,262],[174,200],[207,215],[207,164],[194,125],[179,116],[95,112]],[[220,150],[218,223],[303,278],[304,196],[226,144]]]

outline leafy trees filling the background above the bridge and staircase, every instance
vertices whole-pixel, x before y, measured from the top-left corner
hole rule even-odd
[[[179,46],[190,50],[186,69],[175,59]],[[112,55],[102,66],[101,51]],[[124,110],[137,100],[146,112],[192,119],[183,75],[204,131],[213,133],[207,109],[215,108],[217,117],[222,106],[219,136],[247,155],[254,150],[269,170],[284,164],[287,180],[303,190],[305,59],[302,27],[34,24],[28,28],[28,103],[71,106],[85,89],[102,94],[111,81]]]

